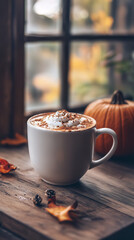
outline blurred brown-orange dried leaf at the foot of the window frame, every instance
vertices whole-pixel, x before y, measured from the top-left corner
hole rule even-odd
[[[0,141],[1,145],[9,145],[9,146],[19,146],[24,143],[27,143],[27,139],[20,135],[19,133],[15,134],[15,138],[6,138]]]

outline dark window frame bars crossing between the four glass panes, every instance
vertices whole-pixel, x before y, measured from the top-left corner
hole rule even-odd
[[[61,33],[59,34],[24,34],[24,10],[25,10],[25,1],[27,0],[12,0],[14,3],[14,22],[16,23],[16,32],[14,34],[15,38],[13,40],[13,51],[21,48],[21,58],[19,59],[19,54],[17,54],[17,50],[14,55],[14,66],[13,66],[13,75],[14,75],[14,83],[15,83],[15,89],[17,89],[16,86],[19,86],[19,84],[22,86],[21,96],[18,96],[19,98],[19,105],[21,110],[19,109],[19,112],[17,115],[21,114],[23,112],[24,115],[24,45],[26,43],[32,43],[32,42],[60,42],[62,46],[61,51],[61,94],[60,94],[60,103],[61,108],[65,108],[69,111],[74,112],[82,112],[86,105],[76,106],[76,107],[69,107],[68,106],[68,100],[69,100],[69,83],[68,83],[68,74],[69,74],[69,58],[70,58],[70,43],[75,41],[134,41],[134,34],[133,33],[108,33],[108,34],[98,34],[98,33],[89,33],[89,34],[72,34],[71,33],[71,20],[70,20],[70,13],[71,13],[71,6],[72,6],[72,0],[62,0],[62,26],[61,26]],[[21,8],[21,11],[20,11]],[[18,27],[20,26],[20,27]],[[15,31],[15,30],[14,30]],[[23,36],[22,36],[23,35]],[[16,55],[17,54],[17,55]],[[19,67],[18,67],[19,65]],[[21,72],[21,77],[18,81],[18,77],[20,74],[18,73],[18,70]],[[17,91],[16,91],[17,94]],[[17,96],[15,96],[15,101],[17,99]],[[47,109],[42,112],[48,112],[48,111],[55,111],[55,109]],[[40,111],[32,111],[26,115],[26,119],[36,113],[39,113]],[[16,116],[17,118],[17,116]],[[16,123],[15,123],[16,124]]]

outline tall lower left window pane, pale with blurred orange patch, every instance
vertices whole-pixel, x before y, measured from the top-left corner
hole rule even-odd
[[[25,45],[26,112],[60,106],[59,53],[59,43]]]

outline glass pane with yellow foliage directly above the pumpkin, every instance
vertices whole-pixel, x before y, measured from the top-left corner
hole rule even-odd
[[[115,89],[134,98],[134,43],[72,43],[69,85],[73,107]]]

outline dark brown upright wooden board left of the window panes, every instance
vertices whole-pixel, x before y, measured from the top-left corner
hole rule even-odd
[[[24,1],[1,1],[0,139],[24,133]]]

